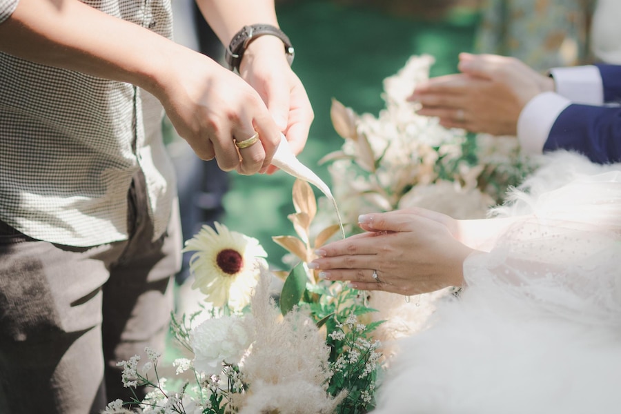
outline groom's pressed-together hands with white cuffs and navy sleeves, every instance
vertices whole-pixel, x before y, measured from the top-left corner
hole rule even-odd
[[[474,132],[517,132],[522,150],[531,154],[566,149],[595,162],[621,161],[621,110],[598,106],[621,100],[621,66],[562,68],[552,72],[552,81],[517,59],[460,58],[463,75],[431,79],[413,95],[422,103],[420,114]],[[457,113],[463,119],[456,120]]]

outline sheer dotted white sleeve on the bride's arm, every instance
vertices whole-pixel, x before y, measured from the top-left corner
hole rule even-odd
[[[493,284],[538,313],[621,327],[621,171],[577,177],[531,209],[489,255],[466,261],[467,284]]]

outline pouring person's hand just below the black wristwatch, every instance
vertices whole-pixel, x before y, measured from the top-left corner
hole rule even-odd
[[[315,115],[302,81],[286,60],[282,41],[262,36],[250,43],[239,73],[262,97],[291,150],[302,152]]]

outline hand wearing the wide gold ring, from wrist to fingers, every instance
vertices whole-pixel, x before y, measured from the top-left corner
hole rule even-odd
[[[280,130],[259,93],[219,63],[179,48],[160,70],[152,92],[177,133],[201,159],[250,175],[265,171],[280,142]],[[238,149],[259,132],[260,143]]]

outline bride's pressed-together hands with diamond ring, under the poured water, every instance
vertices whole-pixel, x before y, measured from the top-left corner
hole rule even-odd
[[[420,208],[363,215],[368,233],[322,246],[309,267],[359,290],[417,295],[461,286],[472,249],[455,239],[457,221]],[[373,271],[377,280],[373,278]]]

